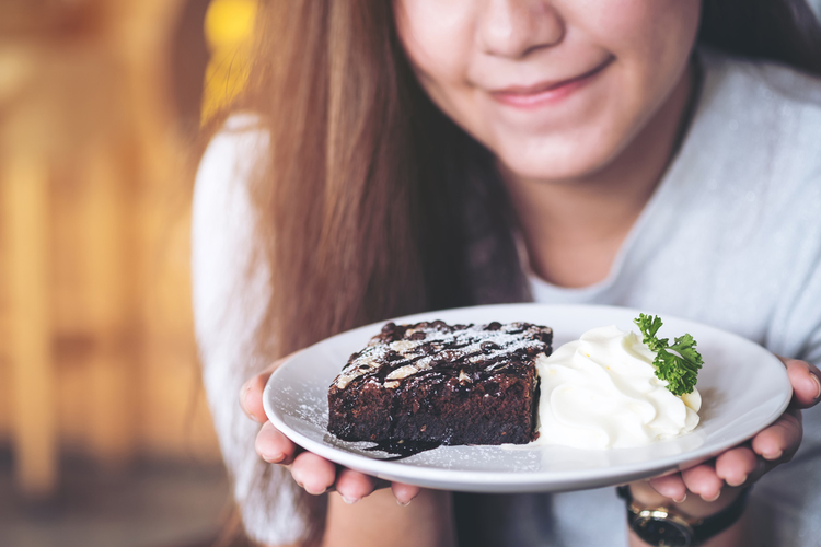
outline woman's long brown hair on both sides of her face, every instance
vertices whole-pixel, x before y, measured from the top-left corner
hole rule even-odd
[[[242,107],[270,135],[252,186],[274,294],[257,333],[267,359],[391,316],[528,298],[493,158],[419,88],[392,5],[261,2]],[[821,74],[803,0],[704,0],[698,40]],[[312,501],[309,543],[324,517]]]

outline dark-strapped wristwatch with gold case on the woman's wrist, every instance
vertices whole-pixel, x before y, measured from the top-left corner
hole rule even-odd
[[[636,535],[654,547],[693,547],[732,526],[747,507],[750,488],[718,513],[694,519],[675,508],[641,508],[633,501],[628,486],[616,489],[618,497],[627,503],[627,525]]]

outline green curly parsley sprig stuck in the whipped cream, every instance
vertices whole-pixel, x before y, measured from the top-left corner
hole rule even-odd
[[[692,393],[698,369],[704,364],[702,354],[695,349],[696,342],[693,337],[685,334],[677,338],[671,346],[667,338],[656,338],[656,333],[661,327],[660,317],[639,314],[633,322],[641,329],[641,341],[656,352],[656,359],[652,361],[656,376],[668,382],[667,388],[673,395]]]

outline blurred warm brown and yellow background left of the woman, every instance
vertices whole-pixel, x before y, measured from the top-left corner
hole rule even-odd
[[[0,0],[0,546],[212,545],[188,201],[254,0]]]

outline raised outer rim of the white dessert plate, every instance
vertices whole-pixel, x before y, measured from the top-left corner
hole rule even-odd
[[[265,389],[263,392],[263,407],[265,409],[265,414],[267,415],[268,419],[271,421],[271,423],[279,429],[286,437],[288,437],[291,441],[293,441],[296,444],[302,446],[303,449],[313,452],[322,457],[325,457],[326,459],[329,459],[336,464],[349,467],[351,469],[360,470],[362,473],[367,473],[369,475],[375,476],[378,478],[384,478],[389,480],[400,480],[407,484],[414,484],[427,488],[433,488],[433,489],[446,489],[446,490],[462,490],[462,491],[475,491],[475,492],[536,492],[536,491],[565,491],[565,490],[582,490],[587,488],[597,488],[600,486],[603,486],[601,482],[602,480],[606,479],[608,477],[612,477],[614,475],[614,472],[617,472],[618,477],[635,477],[631,480],[636,480],[637,478],[649,478],[654,476],[663,475],[666,473],[678,470],[678,469],[686,469],[687,467],[692,467],[693,465],[696,465],[699,462],[703,462],[705,459],[708,459],[709,457],[724,452],[725,450],[736,446],[738,444],[741,444],[742,442],[749,440],[752,438],[758,431],[761,431],[762,429],[768,427],[772,424],[786,410],[786,408],[789,405],[789,401],[791,399],[791,386],[789,384],[789,377],[787,375],[786,369],[783,369],[782,380],[786,382],[786,387],[788,389],[784,391],[784,394],[782,396],[782,401],[779,403],[777,410],[771,412],[765,419],[761,420],[761,424],[758,426],[758,429],[752,431],[752,427],[747,428],[742,433],[737,433],[735,435],[728,437],[728,439],[724,442],[718,443],[712,443],[712,444],[703,444],[702,446],[698,446],[696,449],[693,449],[691,451],[685,451],[684,453],[674,454],[670,456],[662,456],[657,459],[652,459],[651,462],[640,462],[640,463],[633,463],[633,464],[621,464],[621,465],[613,465],[613,466],[604,466],[604,467],[593,467],[589,469],[578,469],[578,470],[557,470],[557,472],[530,472],[530,473],[516,473],[516,474],[507,474],[505,472],[500,470],[466,470],[466,469],[448,469],[448,468],[437,468],[437,467],[428,467],[428,466],[415,466],[415,465],[405,465],[402,461],[384,461],[379,458],[370,458],[360,454],[356,454],[352,452],[348,452],[342,447],[333,446],[320,441],[315,441],[299,431],[296,431],[290,426],[288,426],[282,418],[280,418],[278,411],[276,408],[273,407],[273,399],[271,394],[273,391],[276,388],[276,384],[279,382],[279,377],[284,376],[286,374],[285,371],[288,370],[289,366],[293,366],[294,361],[299,359],[299,356],[305,351],[309,351],[316,346],[320,345],[327,345],[332,344],[333,340],[338,339],[340,337],[348,337],[352,334],[360,334],[360,333],[367,333],[370,331],[372,336],[373,333],[377,333],[382,325],[384,325],[388,322],[395,322],[395,323],[412,323],[412,322],[419,322],[419,321],[432,321],[433,315],[458,315],[460,313],[465,313],[469,311],[476,311],[476,310],[494,310],[494,309],[514,309],[514,307],[522,307],[522,309],[533,309],[533,307],[548,307],[553,310],[555,313],[560,313],[563,309],[565,310],[574,310],[575,312],[578,312],[579,310],[583,310],[586,313],[595,313],[598,312],[617,312],[617,313],[624,313],[626,315],[633,314],[634,316],[637,316],[638,313],[648,313],[646,311],[641,311],[634,307],[627,307],[627,306],[618,306],[618,305],[600,305],[600,304],[545,304],[545,303],[516,303],[516,304],[487,304],[487,305],[477,305],[477,306],[463,306],[463,307],[454,307],[454,309],[447,309],[447,310],[438,310],[438,311],[431,311],[431,312],[420,312],[416,314],[405,315],[401,317],[395,317],[391,319],[384,319],[380,322],[374,322],[368,325],[363,325],[361,327],[357,327],[350,330],[346,330],[344,333],[339,333],[337,335],[334,335],[332,337],[325,338],[323,340],[317,341],[316,344],[313,344],[302,350],[299,350],[294,352],[292,356],[290,356],[286,361],[282,362],[282,364],[274,371],[274,373],[268,379],[268,382],[266,383]],[[659,315],[659,314],[656,314]],[[763,352],[767,353],[770,358],[772,358],[772,361],[778,361],[777,356],[775,356],[772,351],[767,350],[763,346],[744,338],[736,333],[731,333],[712,325],[708,325],[706,323],[701,323],[693,319],[687,319],[683,317],[679,317],[672,314],[663,314],[664,321],[673,321],[675,323],[687,323],[692,325],[697,325],[699,329],[707,329],[713,330],[715,334],[718,334],[720,336],[726,336],[730,338],[735,338],[736,340],[740,340],[742,344],[747,345],[753,345],[756,348],[763,350]],[[443,321],[448,321],[447,317]],[[555,334],[555,327],[552,326]],[[520,445],[524,446],[524,445]],[[541,449],[544,449],[546,446],[542,446]],[[528,449],[517,449],[517,450],[528,450]],[[532,450],[540,450],[537,446],[533,446]],[[611,450],[617,450],[617,449],[611,449]],[[360,465],[363,464],[363,465]],[[407,472],[407,473],[405,473]],[[622,480],[618,481],[611,481],[609,484],[622,484]],[[483,488],[484,487],[484,488]]]

